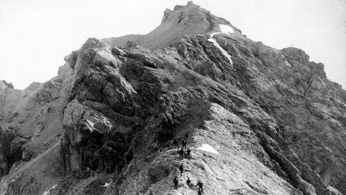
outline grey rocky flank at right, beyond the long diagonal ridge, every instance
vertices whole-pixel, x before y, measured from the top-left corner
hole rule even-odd
[[[230,40],[234,47],[256,48],[249,41]],[[239,79],[242,80],[242,89],[285,126],[281,134],[300,160],[309,164],[326,185],[338,186],[337,189],[345,192],[342,184],[344,176],[341,176],[344,160],[336,160],[336,156],[340,158],[340,155],[343,156],[341,151],[345,150],[345,111],[342,103],[345,102],[345,90],[326,79],[323,65],[308,62],[309,57],[299,49],[283,49],[281,56],[285,56],[290,65],[282,61],[275,66],[266,65],[258,49],[253,49],[257,52],[255,59],[250,59],[248,52],[243,52],[240,57],[248,63],[234,63]],[[231,49],[228,51],[237,55]],[[280,54],[279,51],[276,53]],[[256,68],[251,64],[256,65]],[[249,76],[244,68],[254,76]],[[301,171],[304,175],[304,170]],[[310,173],[305,177],[310,177]]]

